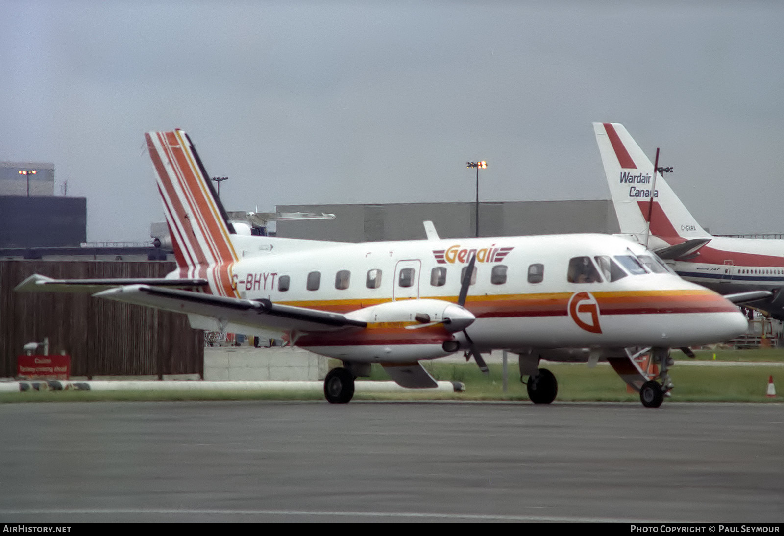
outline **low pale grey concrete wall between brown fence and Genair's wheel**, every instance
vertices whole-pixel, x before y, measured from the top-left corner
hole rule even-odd
[[[321,380],[328,360],[299,348],[209,347],[205,380]]]

